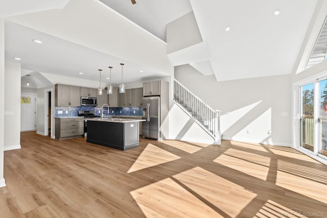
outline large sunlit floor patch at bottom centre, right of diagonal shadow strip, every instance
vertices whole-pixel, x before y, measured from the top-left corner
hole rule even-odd
[[[201,167],[194,167],[173,177],[231,217],[237,217],[257,196],[256,193]]]

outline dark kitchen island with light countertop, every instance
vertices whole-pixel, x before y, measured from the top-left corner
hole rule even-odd
[[[138,147],[138,122],[146,121],[137,118],[90,118],[87,119],[87,142],[100,144],[119,150]]]

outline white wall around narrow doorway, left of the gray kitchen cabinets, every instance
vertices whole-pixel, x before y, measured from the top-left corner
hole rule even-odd
[[[44,91],[45,90],[48,90],[48,89],[52,89],[52,126],[51,126],[51,129],[52,129],[52,137],[54,138],[54,135],[55,135],[55,120],[53,118],[54,114],[55,114],[55,99],[54,99],[54,96],[55,96],[55,86],[48,86],[48,87],[44,87],[44,88],[38,88],[37,89],[37,99],[36,99],[36,131],[38,134],[41,134],[41,135],[45,135],[45,132],[44,132],[44,110],[45,110],[45,106],[44,106],[44,98],[45,98],[45,95],[44,95]],[[48,107],[46,106],[46,108],[48,109]]]

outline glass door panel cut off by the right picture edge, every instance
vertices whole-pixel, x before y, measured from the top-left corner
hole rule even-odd
[[[319,81],[319,130],[318,153],[327,157],[327,79]]]

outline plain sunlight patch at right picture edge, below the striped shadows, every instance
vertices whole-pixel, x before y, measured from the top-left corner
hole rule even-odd
[[[285,164],[278,161],[279,164]],[[281,168],[278,166],[278,168]],[[317,201],[327,203],[327,189],[325,184],[315,182],[311,179],[302,178],[302,175],[298,176],[277,171],[276,185],[286,188],[285,195],[298,198],[299,195],[307,196]],[[306,185],[303,185],[306,184]],[[290,191],[289,191],[290,190]],[[295,193],[294,193],[294,192]]]

